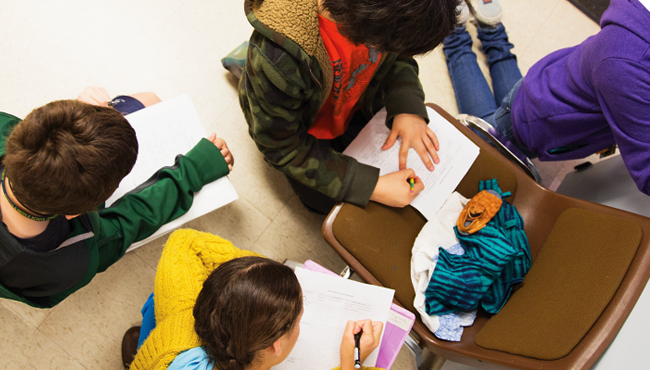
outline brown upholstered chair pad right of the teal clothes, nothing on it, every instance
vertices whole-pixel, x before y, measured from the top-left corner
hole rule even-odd
[[[566,356],[612,300],[641,236],[632,221],[567,209],[521,287],[476,335],[476,344],[542,360]]]

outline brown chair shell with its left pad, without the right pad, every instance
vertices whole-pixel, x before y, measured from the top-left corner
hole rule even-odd
[[[569,198],[535,183],[476,134],[438,106],[429,104],[477,144],[481,153],[457,187],[465,197],[478,192],[480,180],[497,178],[509,201],[524,218],[534,261],[555,221],[569,208],[592,210],[637,223],[643,230],[641,244],[620,287],[593,327],[565,357],[542,361],[476,345],[475,337],[489,315],[479,311],[473,326],[465,328],[460,342],[433,336],[418,319],[414,330],[434,353],[456,362],[484,368],[579,369],[588,368],[605,351],[625,322],[650,276],[650,219],[603,205]],[[395,289],[399,304],[412,312],[415,292],[410,278],[411,248],[426,220],[414,208],[390,208],[371,202],[365,209],[339,204],[323,225],[323,235],[343,259],[369,283]],[[417,316],[417,314],[416,314]]]

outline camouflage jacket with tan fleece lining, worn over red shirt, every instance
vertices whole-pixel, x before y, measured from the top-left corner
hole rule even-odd
[[[337,201],[365,206],[379,169],[331,149],[307,131],[330,94],[332,64],[320,37],[318,0],[245,0],[255,30],[239,82],[249,134],[265,160],[284,174]],[[427,121],[413,58],[382,54],[357,103],[368,118],[382,106],[387,124],[401,113]]]

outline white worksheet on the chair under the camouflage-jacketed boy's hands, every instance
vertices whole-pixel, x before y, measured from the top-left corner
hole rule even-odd
[[[472,167],[478,157],[479,147],[435,110],[427,107],[427,113],[429,128],[436,134],[440,143],[440,163],[435,165],[433,172],[429,171],[415,149],[411,148],[406,168],[412,168],[424,183],[424,190],[411,205],[430,220]],[[390,149],[381,149],[390,133],[385,122],[384,108],[368,122],[343,152],[361,163],[378,167],[380,176],[399,171],[399,150],[402,145],[400,137]]]

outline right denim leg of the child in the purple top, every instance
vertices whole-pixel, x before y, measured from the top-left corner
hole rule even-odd
[[[508,42],[503,24],[493,29],[479,27],[477,33],[481,40],[481,50],[487,55],[494,101],[496,104],[501,104],[515,84],[521,80],[517,57],[510,52],[514,45]]]

